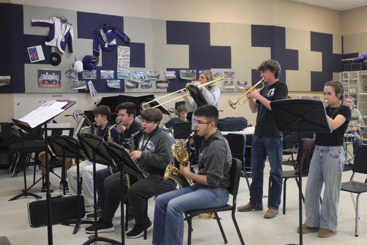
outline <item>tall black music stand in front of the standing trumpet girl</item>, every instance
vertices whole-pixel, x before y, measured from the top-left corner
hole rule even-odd
[[[323,103],[316,100],[278,100],[270,102],[279,131],[302,133],[331,133]],[[301,156],[301,147],[298,147]],[[302,165],[298,164],[299,245],[302,245]]]

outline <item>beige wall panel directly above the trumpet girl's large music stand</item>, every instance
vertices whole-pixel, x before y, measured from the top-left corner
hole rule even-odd
[[[288,91],[311,91],[311,72],[286,70]]]

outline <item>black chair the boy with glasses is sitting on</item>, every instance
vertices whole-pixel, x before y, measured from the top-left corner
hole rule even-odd
[[[202,210],[193,210],[193,211],[185,212],[185,216],[188,217],[187,221],[188,221],[188,224],[189,224],[188,245],[191,245],[191,231],[192,231],[191,221],[192,221],[192,218],[199,215],[200,213],[214,213],[215,217],[218,217],[217,212],[222,212],[222,211],[232,211],[232,220],[233,220],[233,224],[236,227],[238,237],[240,238],[241,244],[242,245],[245,244],[244,241],[243,241],[240,229],[238,227],[236,217],[235,217],[236,198],[237,198],[237,193],[238,193],[238,187],[239,187],[239,184],[240,184],[241,167],[242,167],[241,166],[241,161],[238,160],[238,159],[232,158],[231,176],[230,176],[231,183],[230,183],[230,186],[229,186],[229,194],[231,194],[233,196],[232,206],[229,205],[229,204],[226,204],[223,208],[202,209]],[[219,219],[216,219],[216,220],[217,220],[219,229],[221,230],[224,243],[226,244],[228,242],[227,242],[226,236],[224,234],[221,221]]]

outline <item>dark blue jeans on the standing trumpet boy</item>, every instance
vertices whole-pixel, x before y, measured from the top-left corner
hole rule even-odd
[[[283,185],[281,159],[283,153],[283,137],[254,134],[251,144],[251,178],[250,204],[262,205],[264,188],[264,167],[266,156],[269,158],[271,187],[268,197],[268,208],[279,209]]]

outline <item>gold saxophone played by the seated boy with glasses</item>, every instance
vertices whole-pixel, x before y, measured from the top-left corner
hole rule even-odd
[[[185,140],[182,147],[179,147],[176,144],[173,144],[171,146],[171,151],[173,156],[179,161],[182,166],[188,166],[189,162],[189,152],[185,148],[186,144],[189,142],[190,138],[194,137],[196,134],[196,130],[192,131],[192,133],[189,135],[189,137]],[[190,171],[192,173],[195,173],[195,170],[190,165]],[[180,188],[189,187],[194,184],[193,180],[190,180],[189,178],[186,178],[182,175],[181,171],[174,166],[173,162],[168,163],[168,166],[166,167],[166,171],[164,171],[163,175],[164,180],[172,179],[174,180]],[[204,219],[213,219],[215,217],[214,213],[200,213],[200,216]]]

